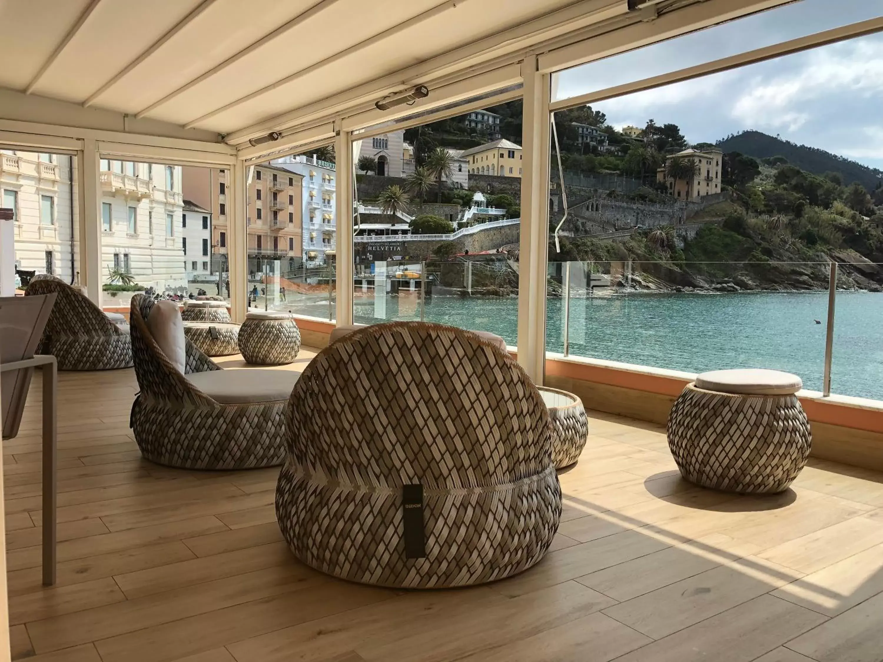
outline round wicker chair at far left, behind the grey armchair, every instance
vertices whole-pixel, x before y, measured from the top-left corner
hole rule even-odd
[[[116,370],[132,367],[128,329],[110,320],[79,291],[51,275],[34,276],[26,296],[56,292],[40,353],[56,357],[58,370]]]

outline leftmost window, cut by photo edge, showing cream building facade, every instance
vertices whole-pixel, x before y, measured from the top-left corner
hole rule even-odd
[[[16,289],[37,274],[79,283],[77,160],[67,154],[0,149],[0,207],[12,209]]]

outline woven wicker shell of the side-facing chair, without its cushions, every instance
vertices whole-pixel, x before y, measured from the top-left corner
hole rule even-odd
[[[153,305],[149,297],[132,297],[132,353],[141,390],[132,404],[131,425],[141,454],[182,469],[256,469],[283,463],[291,390],[268,402],[213,399],[185,375],[221,368],[186,340],[185,374],[178,372],[147,328]],[[253,371],[234,373],[244,380],[245,372]],[[268,378],[269,372],[281,371],[255,372]]]

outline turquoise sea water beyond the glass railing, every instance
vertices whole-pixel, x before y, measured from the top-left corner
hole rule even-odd
[[[419,320],[410,294],[388,296],[381,308],[357,297],[356,321]],[[835,311],[832,392],[883,400],[883,294],[838,292]],[[827,292],[574,297],[570,354],[687,372],[775,368],[821,390],[826,318]],[[517,342],[515,297],[435,296],[425,319]],[[561,299],[548,299],[547,350],[562,351]]]

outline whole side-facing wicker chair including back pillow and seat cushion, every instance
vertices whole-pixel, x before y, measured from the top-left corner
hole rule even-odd
[[[160,313],[177,316],[179,335],[172,329],[168,335],[174,337],[161,337]],[[151,320],[151,315],[159,317]],[[183,469],[254,469],[283,462],[297,372],[222,370],[185,338],[171,302],[154,304],[136,295],[130,319],[140,387],[131,420],[141,455]]]

